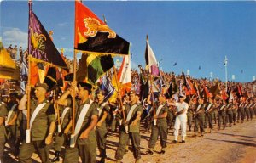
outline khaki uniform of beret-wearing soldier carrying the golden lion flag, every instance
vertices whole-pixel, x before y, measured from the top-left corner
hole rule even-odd
[[[87,99],[84,104],[90,104],[90,100]],[[76,115],[75,115],[75,124],[77,124],[79,115],[83,110],[84,104],[79,104],[79,100],[76,101]],[[68,105],[71,106],[71,100],[68,100]],[[84,116],[84,121],[81,126],[81,130],[78,134],[77,142],[75,148],[69,148],[65,150],[64,162],[73,163],[79,161],[79,156],[83,163],[96,163],[96,132],[91,130],[89,137],[86,139],[79,138],[82,132],[88,126],[90,126],[91,116],[98,115],[97,104],[93,102],[90,104],[90,107]]]

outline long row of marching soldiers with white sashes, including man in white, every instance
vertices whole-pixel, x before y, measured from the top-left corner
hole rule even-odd
[[[150,131],[146,155],[154,155],[154,146],[159,137],[160,154],[164,155],[168,132],[172,132],[172,126],[174,135],[172,143],[179,142],[179,129],[181,129],[180,142],[186,143],[186,132],[194,132],[195,137],[203,136],[207,133],[207,127],[209,133],[212,133],[214,130],[251,121],[256,115],[255,96],[246,98],[243,95],[240,97],[234,95],[232,98],[222,98],[211,95],[202,98],[188,97],[183,93],[166,96],[166,93],[152,93],[150,90],[146,98],[148,106],[145,107],[140,101],[140,94],[135,90],[131,90],[119,100],[122,103],[113,104],[104,100],[106,95],[104,90],[98,89],[92,94],[92,86],[89,83],[72,82],[71,87],[60,93],[59,98],[53,103],[49,101],[47,95],[49,86],[46,83],[37,83],[30,103],[30,141],[26,141],[26,100],[27,93],[31,89],[26,87],[26,93],[22,98],[18,98],[17,93],[11,93],[8,103],[4,103],[1,99],[2,162],[6,139],[12,147],[11,152],[17,155],[20,162],[31,162],[34,152],[38,153],[42,162],[50,162],[49,150],[52,143],[55,158],[51,161],[58,161],[63,157],[63,162],[79,162],[79,158],[82,162],[96,162],[96,148],[98,148],[99,162],[105,162],[108,156],[106,142],[116,128],[119,129],[116,162],[121,162],[123,159],[129,140],[135,161],[140,162],[142,127]],[[75,101],[72,100],[73,90],[77,95]],[[73,104],[76,110],[75,126],[72,122]],[[112,118],[109,118],[110,116]],[[112,120],[109,122],[110,119]],[[111,126],[113,121],[118,124],[117,127]],[[215,124],[217,128],[214,128]]]

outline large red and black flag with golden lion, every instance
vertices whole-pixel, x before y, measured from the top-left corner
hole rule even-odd
[[[79,1],[75,2],[75,44],[80,51],[128,54],[130,43],[119,37],[96,14]]]

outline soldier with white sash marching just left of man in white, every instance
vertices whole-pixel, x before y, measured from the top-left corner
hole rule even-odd
[[[150,94],[148,95],[148,104],[152,104],[150,100]],[[163,94],[159,94],[158,104],[156,106],[156,110],[153,117],[153,121],[151,121],[151,135],[148,142],[148,155],[153,155],[153,150],[157,138],[160,136],[160,145],[161,145],[161,154],[165,154],[166,152],[166,142],[167,142],[167,111],[168,107],[166,104],[166,98]]]

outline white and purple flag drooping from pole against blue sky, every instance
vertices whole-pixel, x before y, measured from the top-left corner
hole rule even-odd
[[[149,73],[152,74],[153,76],[159,76],[158,63],[156,61],[154,52],[149,45],[148,35],[147,35],[147,43],[146,43],[146,50],[145,50],[145,60],[146,60],[146,65],[148,66]]]

